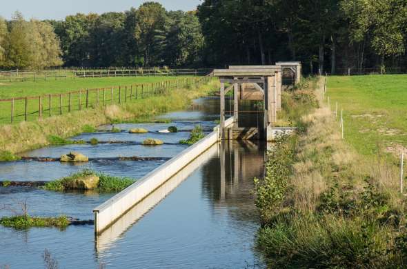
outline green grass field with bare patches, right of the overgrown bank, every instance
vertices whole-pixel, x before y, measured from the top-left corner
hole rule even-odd
[[[407,75],[329,77],[326,96],[332,110],[344,109],[345,139],[359,153],[407,147]]]

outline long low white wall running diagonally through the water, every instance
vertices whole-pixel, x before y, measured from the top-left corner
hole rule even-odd
[[[225,126],[231,126],[233,118],[225,121]],[[210,146],[217,143],[219,137],[219,126],[201,141],[183,150],[179,155],[170,159],[159,168],[138,180],[122,192],[119,192],[108,201],[102,203],[93,210],[95,214],[95,233],[99,235],[112,223],[115,223],[123,214],[128,212],[136,203],[150,195],[151,192],[163,185],[168,179],[176,175],[191,161],[199,157]]]

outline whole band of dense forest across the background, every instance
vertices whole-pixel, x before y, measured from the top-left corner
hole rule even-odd
[[[52,29],[54,30],[52,32]],[[407,0],[155,2],[63,21],[0,19],[0,66],[222,67],[301,61],[310,72],[404,67]]]

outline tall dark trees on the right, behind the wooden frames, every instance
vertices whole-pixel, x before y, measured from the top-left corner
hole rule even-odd
[[[405,66],[406,0],[204,0],[207,65],[301,61],[308,72]]]

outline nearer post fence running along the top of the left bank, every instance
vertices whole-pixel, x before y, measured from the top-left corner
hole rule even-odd
[[[136,83],[127,86],[76,90],[61,94],[43,94],[35,97],[0,99],[0,123],[41,120],[86,108],[96,108],[114,103],[166,94],[168,90],[199,86],[208,83],[211,74],[204,77],[184,77],[155,83]]]

